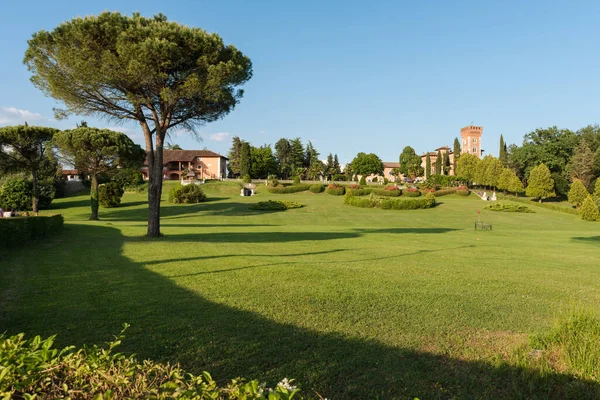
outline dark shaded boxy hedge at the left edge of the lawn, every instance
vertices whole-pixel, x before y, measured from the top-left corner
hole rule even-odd
[[[21,246],[61,231],[62,215],[0,218],[0,248]]]

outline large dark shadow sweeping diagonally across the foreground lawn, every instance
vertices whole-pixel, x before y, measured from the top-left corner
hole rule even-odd
[[[58,333],[59,345],[101,343],[129,322],[121,350],[139,358],[180,362],[220,381],[244,376],[273,385],[295,378],[313,397],[315,392],[333,399],[600,395],[597,382],[568,374],[467,361],[275,322],[209,301],[124,257],[127,238],[117,229],[70,225],[64,235],[71,238],[70,249],[56,244],[38,248],[35,257],[26,250],[5,256],[7,279],[18,282],[15,274],[20,275],[28,285],[0,319],[10,334]],[[11,257],[17,261],[11,263]]]

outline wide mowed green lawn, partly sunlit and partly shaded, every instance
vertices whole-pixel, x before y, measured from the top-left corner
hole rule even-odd
[[[0,331],[81,345],[128,322],[121,350],[140,358],[218,380],[295,378],[330,399],[597,390],[567,367],[552,372],[564,387],[550,387],[512,355],[572,310],[599,309],[600,224],[494,213],[475,196],[385,211],[324,193],[204,188],[209,202],[163,203],[159,239],[144,237],[145,194],[98,222],[87,196],[56,200],[62,235],[0,255]],[[268,199],[306,207],[248,208]],[[473,229],[478,210],[493,231]]]

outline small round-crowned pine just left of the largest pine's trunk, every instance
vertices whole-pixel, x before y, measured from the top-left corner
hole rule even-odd
[[[98,219],[98,177],[116,173],[119,167],[139,168],[145,156],[127,135],[87,125],[57,132],[53,143],[63,160],[91,178],[91,220]]]

